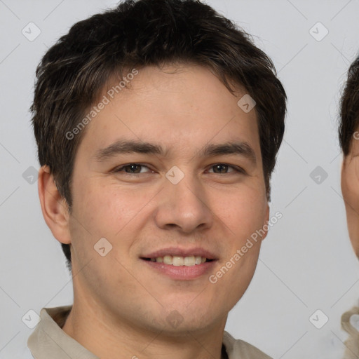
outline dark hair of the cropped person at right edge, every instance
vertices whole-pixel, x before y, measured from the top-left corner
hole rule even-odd
[[[348,156],[355,130],[359,127],[359,56],[348,69],[348,79],[340,102],[339,143]]]

